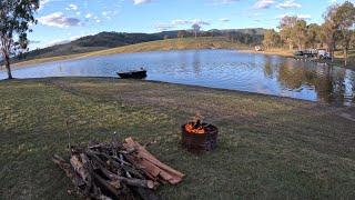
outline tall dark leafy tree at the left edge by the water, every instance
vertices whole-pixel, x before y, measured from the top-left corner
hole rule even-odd
[[[39,8],[39,0],[1,0],[0,1],[0,49],[8,71],[12,79],[10,57],[27,49],[27,32],[30,23],[36,23],[33,17]]]

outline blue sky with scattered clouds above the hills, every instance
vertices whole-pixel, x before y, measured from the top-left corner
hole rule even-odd
[[[40,0],[30,48],[68,42],[102,31],[160,32],[276,28],[280,18],[297,16],[322,23],[322,14],[332,3],[345,0]]]

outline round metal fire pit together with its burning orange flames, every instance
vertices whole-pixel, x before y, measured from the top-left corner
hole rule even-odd
[[[192,122],[183,124],[182,143],[190,152],[207,152],[216,148],[219,129],[212,124],[204,123],[201,116]]]

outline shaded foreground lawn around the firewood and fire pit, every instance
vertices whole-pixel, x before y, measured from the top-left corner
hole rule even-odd
[[[133,136],[185,180],[163,199],[353,199],[355,123],[342,108],[225,90],[114,79],[0,82],[0,199],[75,199],[49,160],[72,142]],[[180,124],[201,112],[219,148],[197,157]]]

